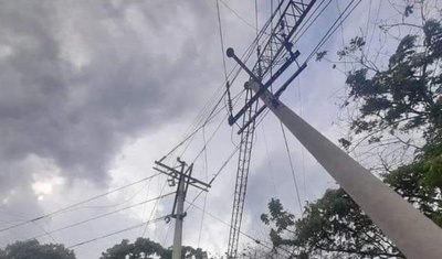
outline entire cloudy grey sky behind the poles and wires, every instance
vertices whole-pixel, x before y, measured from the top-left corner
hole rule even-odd
[[[349,2],[330,2],[296,44],[301,61]],[[36,236],[41,236],[38,238],[41,242],[71,247],[170,213],[173,196],[123,209],[173,192],[161,175],[4,230],[156,174],[154,161],[201,125],[223,89],[224,51],[215,3],[214,0],[0,2],[2,247]],[[255,37],[256,20],[261,28],[270,17],[270,1],[257,1],[257,19],[252,0],[224,0],[219,8],[224,47],[232,46],[236,53],[243,53]],[[372,41],[373,51],[378,51],[382,36],[376,23],[400,19],[394,8],[400,6],[381,0],[361,1],[323,48],[330,51],[330,58],[336,58],[343,42],[365,34]],[[234,62],[225,62],[230,72]],[[238,93],[245,79],[246,75],[240,74],[232,91]],[[336,105],[343,96],[344,82],[343,73],[333,69],[332,64],[313,60],[282,100],[336,142],[345,131],[339,126]],[[202,181],[219,172],[239,143],[238,128],[228,126],[224,101],[221,104],[219,114],[191,141],[172,152],[166,163],[173,164],[177,157],[194,162],[193,175]],[[336,186],[292,136],[288,144],[303,204]],[[185,245],[225,252],[229,226],[221,220],[230,222],[236,163],[234,155],[210,192],[196,199],[200,208],[206,204],[206,216],[197,207],[189,208]],[[197,194],[198,191],[190,190],[187,198],[191,202]],[[244,233],[266,238],[267,229],[259,218],[271,197],[281,198],[290,211],[301,215],[281,126],[269,114],[256,128]],[[116,209],[122,211],[54,231]],[[171,223],[158,222],[73,249],[81,259],[98,258],[123,238],[134,240],[139,236],[168,247],[172,229]],[[241,244],[250,241],[241,236]]]

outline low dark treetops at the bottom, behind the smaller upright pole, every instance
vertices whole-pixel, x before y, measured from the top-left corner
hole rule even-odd
[[[150,256],[156,256],[161,259],[170,259],[172,251],[164,248],[160,244],[150,240],[149,238],[137,238],[134,244],[129,240],[123,239],[120,244],[108,248],[102,253],[101,259],[147,259]],[[201,248],[192,248],[189,246],[182,247],[182,258],[207,259],[208,255]]]

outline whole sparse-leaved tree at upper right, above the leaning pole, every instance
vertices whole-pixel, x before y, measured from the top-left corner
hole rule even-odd
[[[338,61],[317,53],[338,71],[345,64],[341,122],[348,132],[340,144],[350,153],[358,148],[365,165],[379,173],[410,161],[441,134],[442,126],[441,7],[434,0],[388,3],[401,18],[376,24],[383,35],[375,51],[373,31],[351,39]]]

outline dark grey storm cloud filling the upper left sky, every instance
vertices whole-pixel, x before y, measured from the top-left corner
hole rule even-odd
[[[125,140],[190,110],[208,83],[213,19],[206,4],[167,2],[1,3],[0,174],[11,187],[22,179],[8,164],[31,154],[98,182]]]

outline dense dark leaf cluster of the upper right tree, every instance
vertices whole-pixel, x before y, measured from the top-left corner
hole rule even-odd
[[[349,72],[345,105],[358,104],[359,115],[350,128],[356,134],[419,129],[432,140],[441,133],[442,75],[438,64],[442,60],[442,25],[428,20],[422,32],[423,37],[407,35],[401,40],[386,69],[360,60],[360,67]],[[364,39],[357,36],[338,55],[349,56],[364,45]]]

